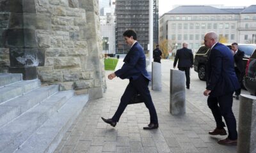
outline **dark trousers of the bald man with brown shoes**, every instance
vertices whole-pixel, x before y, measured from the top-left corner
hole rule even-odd
[[[221,117],[223,116],[228,128],[228,138],[230,138],[230,140],[236,140],[236,118],[234,116],[234,113],[232,112],[232,92],[219,97],[209,96],[207,99],[207,103],[212,111],[217,128],[221,129],[225,127],[225,123],[222,121]]]

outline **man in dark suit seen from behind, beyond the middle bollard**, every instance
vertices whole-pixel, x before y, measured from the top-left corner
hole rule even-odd
[[[190,77],[189,77],[189,69],[193,68],[193,53],[191,49],[188,49],[188,43],[182,43],[181,49],[177,50],[174,63],[173,63],[173,68],[176,67],[177,61],[178,62],[178,68],[180,71],[185,71],[186,75],[186,86],[187,89],[189,89],[190,85]]]

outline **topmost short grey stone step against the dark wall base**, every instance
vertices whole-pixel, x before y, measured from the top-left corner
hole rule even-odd
[[[0,87],[4,85],[13,84],[22,80],[22,74],[15,73],[1,73],[0,74]]]

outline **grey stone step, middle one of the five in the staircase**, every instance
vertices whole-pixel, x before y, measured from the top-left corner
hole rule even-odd
[[[58,92],[59,85],[40,87],[0,105],[0,127]]]

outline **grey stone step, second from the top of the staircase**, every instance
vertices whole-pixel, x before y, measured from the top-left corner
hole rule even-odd
[[[0,104],[40,87],[40,80],[21,81],[0,88]]]

